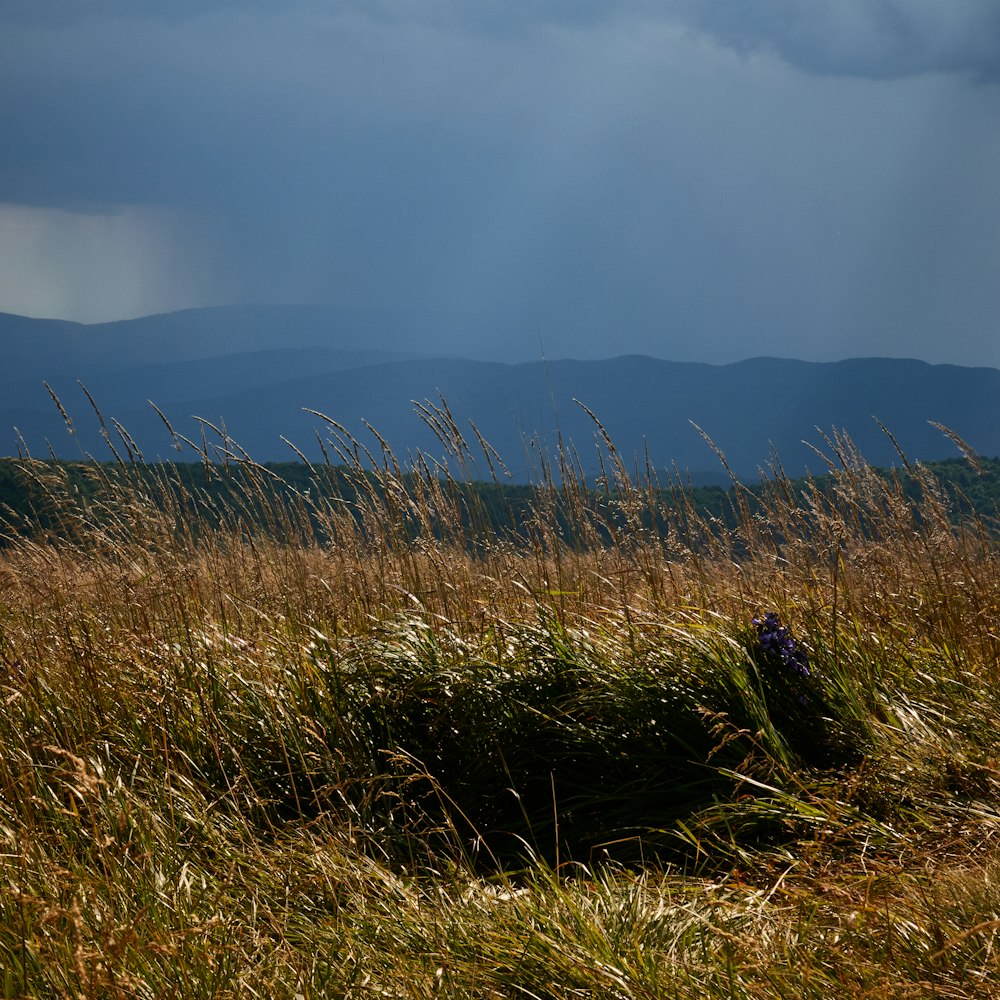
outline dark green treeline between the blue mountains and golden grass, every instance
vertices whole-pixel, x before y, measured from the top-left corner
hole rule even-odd
[[[804,503],[807,495],[832,494],[838,476],[850,471],[843,468],[809,479],[779,474],[761,483],[734,483],[729,489],[693,486],[680,477],[638,486],[621,481],[581,485],[574,480],[563,488],[555,482],[541,486],[463,482],[443,474],[440,488],[447,492],[450,510],[456,515],[449,529],[454,533],[457,521],[468,538],[529,535],[544,511],[547,523],[555,523],[572,540],[585,511],[593,514],[597,533],[611,540],[616,526],[624,530],[638,525],[645,531],[665,532],[668,522],[676,525],[685,519],[731,528],[741,517],[760,516],[767,509],[769,489],[780,488],[792,502]],[[992,522],[1000,512],[1000,458],[948,459],[912,469],[873,471],[879,477],[895,477],[914,503],[925,496],[928,482],[935,484],[956,519],[973,516]],[[379,497],[386,510],[398,515],[400,529],[416,537],[428,529],[419,516],[417,495],[434,480],[427,469],[387,480],[374,472],[305,462],[117,464],[0,459],[2,536],[65,536],[73,530],[70,509],[77,516],[80,511],[89,512],[93,523],[100,521],[102,510],[141,500],[170,508],[192,527],[265,530],[283,536],[306,532],[322,541],[324,509],[330,505],[360,509],[365,497]],[[397,492],[396,484],[402,486],[395,500],[384,496],[390,481]],[[636,509],[637,498],[641,509]]]

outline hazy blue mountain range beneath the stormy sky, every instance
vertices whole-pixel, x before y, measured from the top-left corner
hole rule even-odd
[[[618,357],[605,361],[500,364],[435,358],[386,334],[384,317],[327,307],[196,309],[83,326],[0,314],[0,454],[26,445],[44,457],[107,458],[100,424],[77,382],[125,427],[147,460],[178,454],[152,400],[173,428],[200,441],[201,417],[258,461],[294,458],[281,438],[319,458],[327,414],[377,452],[367,421],[401,459],[417,450],[440,457],[414,401],[447,400],[481,456],[468,421],[503,456],[515,479],[537,475],[540,455],[572,443],[588,474],[599,468],[601,434],[574,400],[600,419],[631,465],[689,471],[721,480],[718,460],[692,422],[732,468],[753,479],[776,453],[790,475],[824,470],[823,434],[845,431],[870,462],[898,462],[881,421],[910,459],[954,455],[929,421],[944,424],[979,453],[1000,455],[1000,371],[860,358],[810,363],[755,358],[709,365]],[[73,434],[43,386],[73,420]],[[877,421],[876,419],[877,418]],[[15,431],[15,428],[17,429]],[[20,441],[18,438],[20,434]],[[209,431],[209,441],[218,438]],[[454,469],[454,462],[450,463]],[[485,478],[480,458],[474,475]]]

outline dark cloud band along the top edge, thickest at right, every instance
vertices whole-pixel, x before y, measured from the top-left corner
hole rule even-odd
[[[996,0],[7,0],[0,18],[59,26],[109,19],[177,24],[219,16],[351,16],[382,26],[494,37],[549,24],[632,18],[686,25],[739,52],[768,50],[807,73],[1000,76]]]

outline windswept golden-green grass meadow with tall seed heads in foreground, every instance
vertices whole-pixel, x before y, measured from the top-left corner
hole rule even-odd
[[[994,521],[837,434],[720,518],[597,425],[504,529],[424,417],[328,421],[340,495],[18,463],[2,995],[1000,996]]]

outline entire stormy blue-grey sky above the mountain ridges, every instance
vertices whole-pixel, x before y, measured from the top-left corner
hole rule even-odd
[[[238,302],[1000,367],[1000,4],[4,0],[0,311]]]

